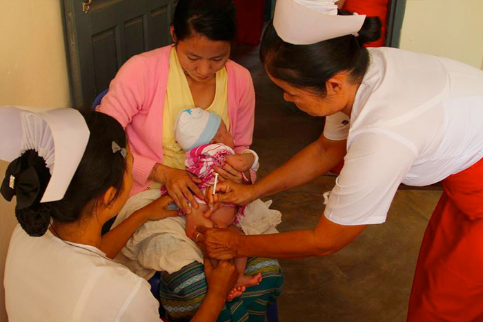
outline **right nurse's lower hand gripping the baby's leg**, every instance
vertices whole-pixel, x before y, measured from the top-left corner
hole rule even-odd
[[[227,229],[197,226],[197,245],[205,254],[220,261],[238,256],[237,245],[242,245],[245,235]]]

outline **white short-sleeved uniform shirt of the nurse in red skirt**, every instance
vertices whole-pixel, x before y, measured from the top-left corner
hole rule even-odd
[[[483,157],[482,70],[394,48],[370,53],[350,119],[339,112],[324,128],[347,139],[324,212],[342,225],[383,223],[400,183],[430,185]]]

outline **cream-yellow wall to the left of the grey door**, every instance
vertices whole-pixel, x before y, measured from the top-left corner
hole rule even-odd
[[[70,107],[61,0],[0,0],[0,106]],[[0,138],[0,140],[3,138]],[[6,170],[0,161],[0,180]],[[0,197],[0,321],[5,312],[3,269],[17,220]]]

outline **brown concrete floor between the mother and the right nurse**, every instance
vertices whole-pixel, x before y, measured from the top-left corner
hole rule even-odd
[[[322,133],[322,118],[286,103],[266,76],[258,48],[237,48],[233,59],[252,73],[257,94],[252,145],[259,176],[281,165]],[[321,216],[322,193],[335,177],[282,192],[273,208],[283,214],[280,231],[311,229]],[[280,321],[405,321],[424,230],[441,194],[438,186],[397,191],[388,221],[371,225],[343,250],[324,258],[281,261],[285,283]]]

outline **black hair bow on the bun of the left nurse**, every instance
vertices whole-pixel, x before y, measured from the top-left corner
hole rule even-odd
[[[0,192],[7,201],[11,201],[13,196],[17,196],[17,210],[28,208],[39,197],[39,174],[33,165],[22,170],[21,158],[14,159],[5,172]]]

